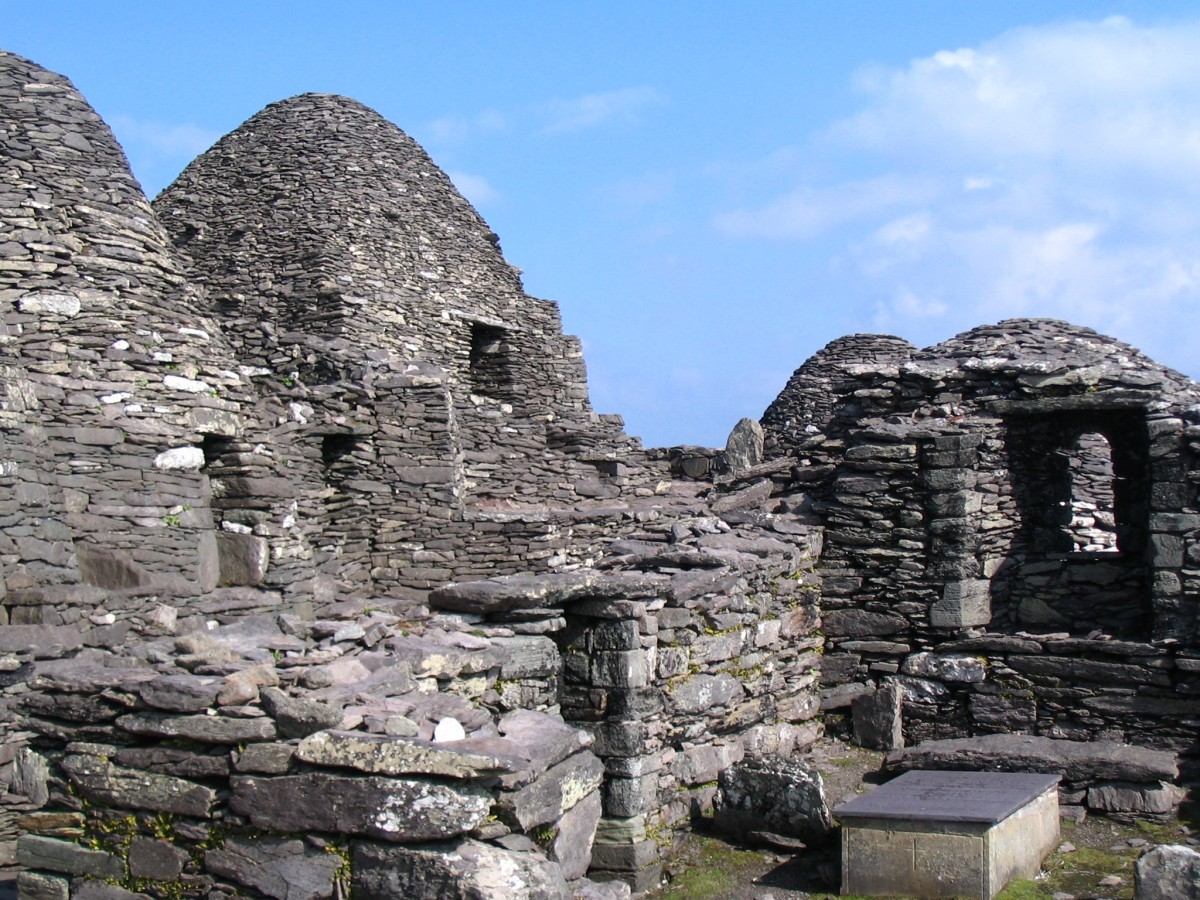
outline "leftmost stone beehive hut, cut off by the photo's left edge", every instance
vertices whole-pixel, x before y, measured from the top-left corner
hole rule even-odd
[[[194,599],[218,578],[198,445],[248,384],[70,82],[0,55],[0,140],[5,618]]]

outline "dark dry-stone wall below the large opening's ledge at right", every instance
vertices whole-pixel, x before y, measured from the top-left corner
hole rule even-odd
[[[923,649],[904,635],[847,634],[883,617],[827,614],[822,707],[834,718],[880,685],[904,696],[904,738],[1027,732],[1120,740],[1184,755],[1195,767],[1200,653],[1066,634],[980,634]],[[830,622],[832,619],[832,622]],[[857,625],[856,625],[857,623]]]

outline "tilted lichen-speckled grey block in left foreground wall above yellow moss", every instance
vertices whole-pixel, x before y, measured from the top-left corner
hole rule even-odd
[[[216,791],[169,775],[113,766],[97,756],[67,756],[62,770],[92,803],[208,818]]]

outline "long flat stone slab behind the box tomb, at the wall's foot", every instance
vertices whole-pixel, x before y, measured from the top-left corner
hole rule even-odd
[[[884,767],[910,769],[998,769],[1061,773],[1067,781],[1159,782],[1178,778],[1175,754],[1112,740],[1082,743],[1032,734],[985,734],[926,740],[888,754]]]

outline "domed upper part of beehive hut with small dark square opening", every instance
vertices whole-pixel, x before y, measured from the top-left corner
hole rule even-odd
[[[587,414],[575,338],[526,295],[496,234],[403,131],[358,101],[304,94],[263,109],[155,200],[246,362],[320,346],[432,362],[468,392]],[[328,358],[328,356],[326,356]],[[306,368],[306,365],[308,368]]]

